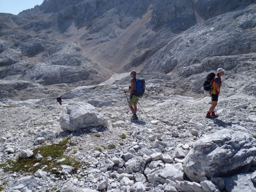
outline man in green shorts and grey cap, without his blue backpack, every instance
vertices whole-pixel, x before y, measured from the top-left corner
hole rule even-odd
[[[129,108],[131,109],[131,112],[133,113],[133,116],[131,117],[131,120],[137,120],[138,117],[137,117],[137,103],[139,101],[139,97],[138,96],[135,96],[133,93],[134,91],[137,90],[137,83],[136,83],[136,71],[131,71],[131,77],[133,78],[131,80],[131,86],[129,86],[129,90],[128,91],[124,91],[124,93],[129,93],[131,92],[130,94],[130,98],[129,98]]]

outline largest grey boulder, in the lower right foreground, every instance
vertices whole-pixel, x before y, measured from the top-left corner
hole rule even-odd
[[[253,161],[256,139],[241,131],[222,129],[196,141],[183,167],[191,181],[226,176]],[[223,163],[225,162],[225,163]]]

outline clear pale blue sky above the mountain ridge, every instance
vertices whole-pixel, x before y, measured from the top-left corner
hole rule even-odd
[[[43,0],[0,0],[0,13],[18,15],[19,12],[41,5]]]

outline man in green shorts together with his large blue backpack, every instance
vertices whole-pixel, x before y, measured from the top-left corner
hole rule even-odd
[[[131,93],[129,97],[129,108],[133,113],[131,120],[138,120],[137,116],[137,103],[139,101],[139,97],[143,95],[145,91],[145,80],[142,78],[136,78],[136,71],[131,71],[130,75],[133,78],[131,80],[131,86],[129,86],[129,90],[124,91],[124,93]],[[126,96],[127,97],[127,96]]]

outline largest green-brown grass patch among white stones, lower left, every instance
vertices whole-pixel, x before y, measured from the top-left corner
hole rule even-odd
[[[49,171],[54,167],[56,167],[57,169],[61,169],[61,165],[70,165],[75,167],[71,174],[76,173],[77,169],[81,167],[81,163],[75,161],[75,159],[72,157],[64,155],[64,152],[67,149],[66,144],[69,143],[70,139],[71,137],[67,137],[60,143],[38,147],[37,149],[33,150],[33,156],[31,158],[23,159],[21,157],[18,157],[16,161],[6,161],[6,163],[9,164],[9,167],[4,167],[3,169],[4,171],[18,172],[22,170],[26,173],[35,173],[38,170],[38,166],[42,167],[43,165],[47,165],[44,171]],[[38,151],[40,151],[40,154],[43,156],[41,161],[38,161],[35,158]],[[53,159],[65,158],[66,160],[57,163],[57,161],[47,161],[47,157],[52,157]],[[33,165],[37,162],[39,162],[40,164],[34,167]]]

